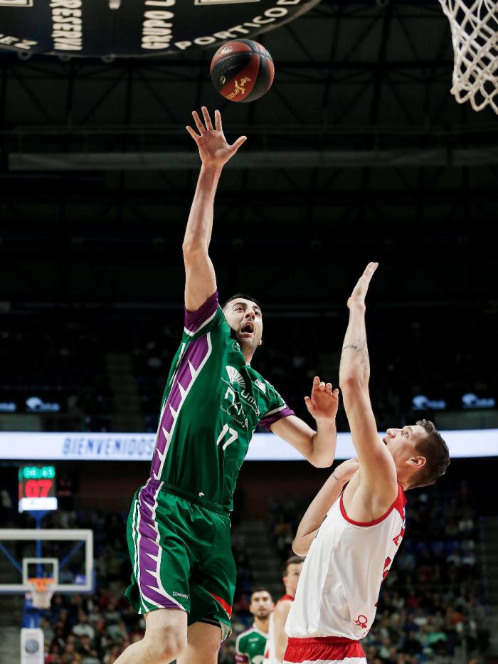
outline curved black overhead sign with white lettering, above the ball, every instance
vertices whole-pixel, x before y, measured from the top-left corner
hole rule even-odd
[[[186,53],[252,38],[319,0],[0,0],[0,48],[61,56]]]

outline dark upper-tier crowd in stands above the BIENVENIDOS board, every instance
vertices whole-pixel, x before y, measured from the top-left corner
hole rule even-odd
[[[302,397],[313,376],[326,376],[337,384],[346,320],[326,312],[297,318],[292,311],[276,315],[270,309],[266,315],[264,307],[263,316],[265,343],[258,349],[254,366],[297,414],[307,416]],[[437,411],[410,412],[416,394],[432,401],[445,400],[447,408],[455,410],[462,410],[461,396],[468,392],[498,399],[498,359],[485,354],[479,343],[478,316],[461,317],[456,312],[460,336],[447,335],[444,346],[438,342],[443,327],[452,325],[451,316],[447,310],[420,311],[410,315],[400,335],[398,315],[370,313],[371,394],[380,428],[394,420],[411,419],[413,414],[415,418],[429,416],[437,423]],[[119,404],[110,388],[106,354],[124,354],[131,361],[141,414],[139,423],[130,426],[156,431],[166,376],[181,338],[180,308],[36,310],[0,317],[5,357],[0,413],[9,412],[5,404],[12,403],[17,413],[31,413],[26,399],[36,396],[60,406],[58,411],[43,413],[46,431],[115,431]],[[140,325],[130,325],[129,320],[137,317]],[[456,340],[462,334],[469,353],[462,352],[462,344]],[[35,408],[34,412],[39,411]],[[342,413],[339,428],[346,430]]]

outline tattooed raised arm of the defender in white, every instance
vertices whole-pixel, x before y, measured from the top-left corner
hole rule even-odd
[[[378,263],[369,263],[348,300],[349,324],[344,337],[339,384],[359,460],[359,485],[366,500],[382,509],[397,495],[396,466],[378,437],[369,396],[370,362],[366,345],[365,297]],[[375,511],[375,510],[374,510]]]

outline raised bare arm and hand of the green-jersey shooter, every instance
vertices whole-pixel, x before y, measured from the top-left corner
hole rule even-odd
[[[213,230],[214,196],[223,166],[246,139],[241,136],[232,145],[228,144],[223,135],[220,112],[214,112],[214,127],[205,106],[202,107],[202,115],[203,120],[196,111],[192,113],[197,131],[186,127],[197,144],[202,162],[183,243],[185,307],[189,311],[201,307],[216,290],[216,275],[208,255]]]

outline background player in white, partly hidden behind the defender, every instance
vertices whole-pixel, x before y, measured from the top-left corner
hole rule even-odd
[[[303,559],[300,556],[292,556],[285,563],[284,569],[282,569],[282,583],[285,586],[285,595],[282,595],[277,601],[275,609],[270,616],[265,659],[263,660],[265,664],[281,664],[284,659],[285,648],[287,648],[285,621],[287,621],[290,607],[294,601],[302,562]]]

